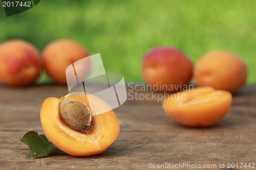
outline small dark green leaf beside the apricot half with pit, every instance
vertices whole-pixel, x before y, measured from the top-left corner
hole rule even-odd
[[[43,158],[50,154],[67,155],[67,153],[58,149],[52,142],[49,142],[45,135],[38,135],[37,132],[27,132],[20,141],[29,146],[33,157]]]

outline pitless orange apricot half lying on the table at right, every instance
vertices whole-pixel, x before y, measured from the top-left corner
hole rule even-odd
[[[189,127],[207,127],[218,123],[228,112],[232,95],[211,87],[198,87],[170,95],[163,101],[164,111]]]

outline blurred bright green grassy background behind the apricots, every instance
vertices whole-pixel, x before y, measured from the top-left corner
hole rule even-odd
[[[179,48],[195,63],[203,54],[237,54],[256,82],[256,1],[72,1],[42,0],[37,6],[1,17],[0,42],[25,39],[42,50],[59,38],[77,40],[100,53],[108,72],[142,82],[141,61],[155,46]],[[234,75],[235,76],[235,75]],[[48,81],[42,75],[39,82]]]

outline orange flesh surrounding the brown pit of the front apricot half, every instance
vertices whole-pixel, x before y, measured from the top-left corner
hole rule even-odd
[[[84,93],[82,93],[84,95]],[[101,99],[91,96],[90,106],[85,96],[67,95],[64,98],[48,98],[41,108],[41,124],[46,136],[60,150],[74,156],[90,156],[108,149],[116,140],[120,126],[113,110],[93,115],[93,128],[90,132],[73,129],[60,115],[60,103],[65,99],[79,101],[90,110],[101,112],[109,107]]]

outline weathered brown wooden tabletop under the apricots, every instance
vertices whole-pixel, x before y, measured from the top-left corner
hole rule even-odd
[[[67,93],[66,86],[0,86],[0,168],[150,169],[149,163],[170,163],[171,167],[189,163],[189,169],[195,169],[192,166],[197,163],[201,168],[204,164],[216,164],[219,169],[220,163],[225,163],[224,169],[229,169],[229,162],[256,163],[255,85],[246,86],[234,95],[228,114],[210,128],[184,127],[164,113],[162,102],[129,97],[114,110],[120,133],[105,152],[90,157],[31,157],[28,146],[20,138],[28,131],[44,134],[39,117],[42,102],[50,96],[59,98]],[[150,91],[139,93],[151,94]]]

